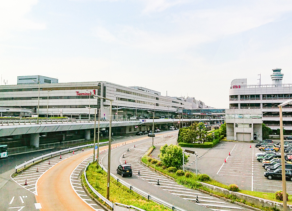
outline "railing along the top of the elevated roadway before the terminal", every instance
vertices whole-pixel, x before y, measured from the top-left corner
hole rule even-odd
[[[98,120],[96,120],[98,121]],[[128,122],[139,121],[139,119],[112,119],[112,122]],[[100,122],[109,122],[109,119],[100,119]],[[59,123],[94,123],[94,119],[90,122],[86,119],[39,119],[39,124],[59,124]],[[0,124],[4,125],[21,125],[21,124],[37,124],[36,119],[0,119]]]

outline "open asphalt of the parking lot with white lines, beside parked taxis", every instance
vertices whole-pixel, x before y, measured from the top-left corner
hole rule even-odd
[[[256,159],[256,153],[260,151],[254,145],[255,143],[220,142],[212,149],[206,150],[198,159],[199,173],[206,173],[226,185],[237,184],[243,190],[261,192],[282,190],[281,180],[269,180],[263,176],[265,169]],[[192,171],[194,165],[191,167]],[[217,173],[214,173],[215,171]],[[292,182],[286,181],[286,184],[287,193],[292,194]]]

